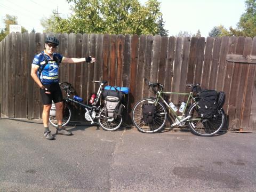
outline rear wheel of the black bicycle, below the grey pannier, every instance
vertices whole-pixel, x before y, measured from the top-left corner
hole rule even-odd
[[[115,131],[121,126],[123,118],[122,116],[117,116],[117,118],[106,117],[105,108],[102,108],[99,113],[98,121],[103,130]]]

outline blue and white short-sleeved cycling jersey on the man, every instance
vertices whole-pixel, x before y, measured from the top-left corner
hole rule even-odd
[[[46,54],[45,54],[46,55]],[[59,63],[62,61],[63,56],[59,53],[53,53],[53,58],[57,58]],[[52,84],[59,82],[59,65],[55,61],[56,59],[52,60],[49,55],[46,55],[48,59],[47,65],[42,70],[40,77],[38,78],[41,80],[42,84]],[[39,53],[35,55],[32,65],[37,65],[39,68],[42,68],[45,64],[45,57],[43,53]],[[38,73],[37,73],[38,74]],[[39,75],[39,74],[38,74]]]

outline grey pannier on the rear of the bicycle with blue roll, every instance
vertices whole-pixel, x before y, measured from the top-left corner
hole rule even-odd
[[[107,117],[116,118],[119,112],[120,99],[118,97],[107,96],[105,98],[105,113]]]

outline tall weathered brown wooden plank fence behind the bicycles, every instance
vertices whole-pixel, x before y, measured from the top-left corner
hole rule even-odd
[[[150,93],[145,80],[164,84],[166,91],[185,92],[187,83],[226,92],[225,112],[231,129],[255,129],[256,38],[175,38],[159,35],[55,34],[58,52],[66,57],[92,55],[95,63],[60,65],[60,81],[90,98],[92,80],[130,87],[129,111]],[[1,114],[41,118],[39,89],[30,77],[31,62],[44,48],[46,34],[12,33],[0,43]],[[170,98],[169,98],[170,100]],[[172,97],[179,105],[182,97]]]

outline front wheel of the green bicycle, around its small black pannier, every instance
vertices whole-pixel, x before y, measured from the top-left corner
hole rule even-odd
[[[132,122],[137,127],[137,129],[144,133],[156,133],[163,129],[166,119],[167,113],[163,104],[160,102],[156,103],[156,116],[154,118],[154,122],[152,124],[146,124],[142,115],[142,106],[145,104],[153,105],[155,98],[142,99],[138,101],[133,110],[132,110]]]

